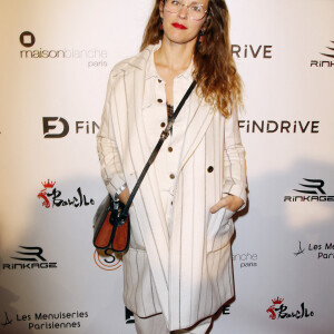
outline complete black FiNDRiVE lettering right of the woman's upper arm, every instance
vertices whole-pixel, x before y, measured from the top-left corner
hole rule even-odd
[[[318,134],[318,120],[239,120],[247,134]]]

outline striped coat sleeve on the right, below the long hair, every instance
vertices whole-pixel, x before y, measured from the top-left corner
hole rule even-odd
[[[224,185],[223,197],[235,195],[244,200],[243,209],[247,200],[247,180],[245,149],[242,144],[238,127],[238,116],[234,111],[225,119],[225,147],[224,147]]]

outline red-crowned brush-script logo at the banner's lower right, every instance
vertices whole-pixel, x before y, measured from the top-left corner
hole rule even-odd
[[[266,312],[269,314],[271,320],[278,318],[306,318],[314,316],[313,311],[308,311],[305,307],[305,303],[301,304],[301,308],[295,312],[288,312],[287,306],[283,304],[284,298],[277,297],[276,299],[272,299],[273,305],[269,306]]]

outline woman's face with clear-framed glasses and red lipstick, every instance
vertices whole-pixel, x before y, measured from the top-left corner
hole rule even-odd
[[[203,27],[206,14],[200,20],[190,18],[190,10],[187,6],[202,4],[203,9],[207,10],[209,0],[178,0],[181,4],[178,12],[170,12],[166,8],[166,2],[169,0],[160,1],[160,17],[164,26],[164,37],[175,43],[194,42],[197,39],[198,32]],[[186,6],[187,4],[187,6]]]

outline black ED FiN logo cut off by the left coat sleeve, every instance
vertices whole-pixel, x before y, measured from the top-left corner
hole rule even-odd
[[[69,134],[70,127],[68,121],[62,117],[43,117],[43,136],[48,139],[63,138]],[[99,126],[95,121],[77,120],[75,122],[76,135],[95,135]]]

